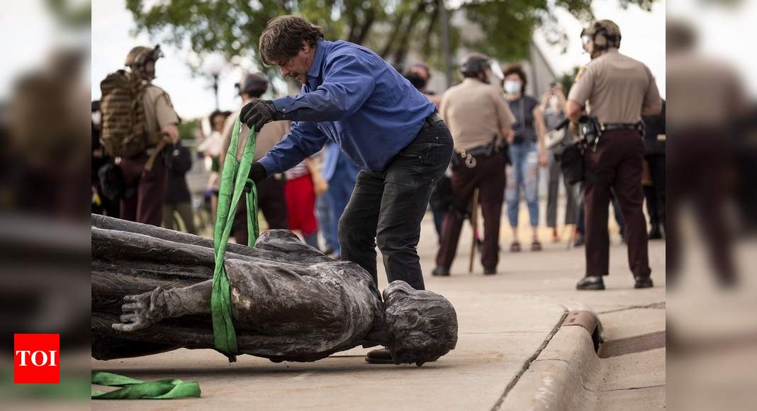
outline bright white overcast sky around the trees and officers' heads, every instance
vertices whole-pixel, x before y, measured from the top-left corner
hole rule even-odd
[[[623,10],[617,0],[597,0],[593,4],[597,18],[609,18],[618,23],[623,36],[621,52],[643,61],[650,67],[662,95],[665,94],[665,1],[659,2],[653,11],[646,12],[636,6]],[[547,60],[556,73],[572,70],[576,65],[589,61],[581,49],[578,34],[581,23],[568,13],[557,11],[560,23],[565,26],[570,43],[568,51],[551,47],[539,33],[534,36]],[[132,36],[134,22],[126,10],[124,0],[94,0],[92,2],[92,99],[100,97],[101,79],[114,70],[123,67],[124,58],[135,45],[154,45],[142,33]],[[161,45],[165,57],[157,63],[157,79],[154,84],[164,88],[171,96],[179,116],[184,119],[204,117],[215,108],[212,82],[207,77],[192,76],[185,64],[189,55],[167,45]],[[234,83],[238,82],[242,70],[229,68],[220,76],[219,101],[222,110],[235,110],[240,101],[235,95]]]

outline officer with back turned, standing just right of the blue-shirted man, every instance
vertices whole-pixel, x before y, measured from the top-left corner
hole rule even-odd
[[[469,54],[461,67],[463,83],[441,98],[441,117],[450,127],[452,157],[452,210],[444,217],[435,276],[448,276],[455,258],[463,220],[478,188],[484,216],[481,264],[484,274],[496,274],[500,250],[500,217],[505,193],[506,161],[503,142],[512,134],[515,117],[499,87],[489,84],[491,70],[483,54]]]

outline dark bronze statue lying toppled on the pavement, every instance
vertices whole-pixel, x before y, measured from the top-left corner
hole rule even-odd
[[[363,268],[290,231],[229,244],[225,261],[240,353],[315,361],[380,344],[394,363],[421,366],[457,342],[446,298],[395,281],[382,299]],[[91,271],[95,359],[213,348],[210,239],[93,214]]]

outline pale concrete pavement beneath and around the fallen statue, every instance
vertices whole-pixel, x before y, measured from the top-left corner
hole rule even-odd
[[[499,274],[483,276],[478,262],[474,272],[467,273],[470,238],[469,229],[464,229],[452,276],[426,278],[426,288],[449,298],[459,319],[457,348],[438,362],[422,367],[371,365],[363,361],[368,351],[364,349],[338,353],[315,363],[276,364],[241,356],[237,363],[229,364],[213,350],[177,350],[136,359],[92,360],[92,369],[148,380],[199,381],[202,388],[199,399],[104,400],[93,402],[92,408],[536,409],[544,405],[533,400],[539,390],[544,390],[544,380],[539,379],[542,374],[534,372],[534,367],[547,354],[553,358],[562,355],[565,358],[557,360],[565,362],[575,358],[576,350],[559,350],[560,344],[569,341],[562,338],[566,334],[565,327],[560,328],[569,310],[590,308],[600,313],[609,339],[664,330],[665,313],[660,309],[664,308],[665,301],[662,242],[650,243],[656,288],[633,289],[625,246],[614,244],[612,274],[606,282],[608,289],[597,292],[575,291],[575,282],[584,268],[583,248],[567,251],[564,243],[545,243],[544,251],[539,253],[503,251]],[[503,248],[506,244],[509,242],[503,238]],[[435,252],[436,233],[429,215],[424,220],[419,245],[426,273],[434,267]],[[385,276],[380,274],[379,278],[379,287],[383,288]],[[634,315],[633,310],[643,310],[646,314]],[[572,328],[568,333],[574,334],[576,341],[587,338],[587,332],[581,335],[580,330]],[[657,370],[658,377],[662,370],[664,403],[664,348],[662,350],[662,358],[657,355],[648,365]],[[590,353],[593,354],[593,350]],[[585,360],[579,358],[582,359]],[[579,371],[593,372],[591,384],[594,385],[588,387],[593,393],[602,392],[602,378],[596,381],[598,369],[597,366],[579,367]],[[646,371],[648,374],[649,370]],[[605,375],[614,375],[612,369]],[[562,384],[568,387],[575,383],[570,379]],[[615,381],[611,389],[622,388],[626,382],[629,381]],[[589,400],[602,404],[597,398]],[[579,404],[568,403],[574,408]]]

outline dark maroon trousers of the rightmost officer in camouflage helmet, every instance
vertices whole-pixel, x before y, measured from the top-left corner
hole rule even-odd
[[[625,222],[628,266],[636,277],[650,276],[646,219],[642,210],[643,158],[644,143],[635,130],[605,132],[597,149],[584,153],[587,276],[606,276],[609,271],[607,211],[612,191],[618,197]]]

